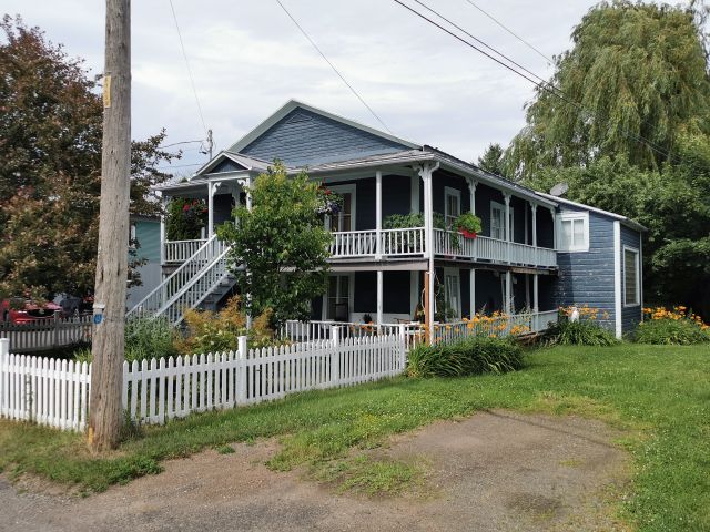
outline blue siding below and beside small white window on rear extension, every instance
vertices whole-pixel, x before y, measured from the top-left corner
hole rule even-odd
[[[584,209],[562,208],[562,212]],[[558,253],[559,277],[555,300],[559,306],[588,304],[607,313],[604,321],[613,330],[613,219],[589,213],[589,252]]]

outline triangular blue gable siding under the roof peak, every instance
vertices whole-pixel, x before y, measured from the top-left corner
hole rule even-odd
[[[288,166],[347,161],[408,150],[407,146],[367,133],[304,109],[295,109],[242,153]]]

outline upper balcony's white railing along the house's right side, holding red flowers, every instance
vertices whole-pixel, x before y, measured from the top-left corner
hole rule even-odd
[[[555,249],[499,241],[487,236],[464,238],[459,233],[444,229],[434,229],[434,253],[448,257],[510,263],[521,266],[557,266]]]

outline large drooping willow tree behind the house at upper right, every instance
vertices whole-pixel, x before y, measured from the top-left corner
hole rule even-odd
[[[564,99],[537,89],[527,125],[508,150],[510,172],[525,178],[605,155],[656,170],[667,154],[672,158],[680,135],[709,133],[700,9],[629,1],[592,8],[572,32],[574,47],[557,58],[547,85]]]

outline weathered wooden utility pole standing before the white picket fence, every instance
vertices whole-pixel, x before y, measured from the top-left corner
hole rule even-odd
[[[116,446],[128,279],[131,172],[131,1],[106,0],[101,214],[94,289],[89,447]]]

